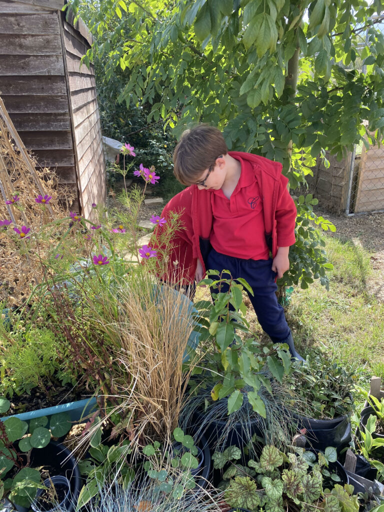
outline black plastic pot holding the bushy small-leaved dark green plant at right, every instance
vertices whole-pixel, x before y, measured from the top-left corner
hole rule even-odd
[[[337,453],[349,445],[351,440],[351,421],[349,416],[332,419],[312,419],[295,415],[297,429],[306,429],[306,450],[324,452],[327,446],[334,446]]]

